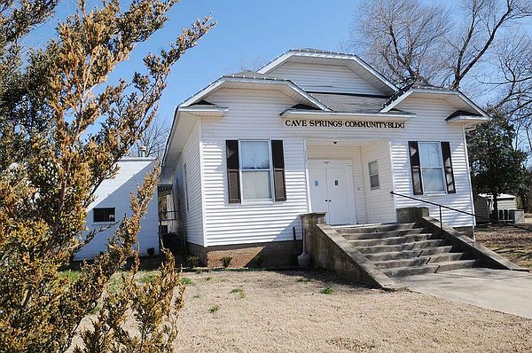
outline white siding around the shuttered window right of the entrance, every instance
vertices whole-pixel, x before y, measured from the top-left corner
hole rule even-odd
[[[466,146],[463,129],[459,125],[447,124],[445,118],[456,109],[438,99],[405,99],[398,106],[409,113],[418,114],[407,122],[402,138],[391,140],[392,161],[395,177],[395,192],[419,199],[439,203],[466,212],[473,212],[473,198],[466,159]],[[440,195],[413,195],[411,163],[408,141],[449,141],[456,193]],[[415,200],[395,197],[397,208],[426,206],[430,216],[439,217],[435,206]],[[473,225],[473,217],[442,208],[443,222],[454,227]]]

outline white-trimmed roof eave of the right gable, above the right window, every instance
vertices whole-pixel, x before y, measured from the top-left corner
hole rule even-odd
[[[458,90],[434,90],[434,89],[411,89],[404,92],[401,96],[395,98],[393,102],[382,108],[381,113],[387,113],[395,106],[398,106],[406,98],[426,98],[426,99],[444,99],[457,110],[463,110],[473,115],[479,115],[489,119],[489,115],[481,107]]]

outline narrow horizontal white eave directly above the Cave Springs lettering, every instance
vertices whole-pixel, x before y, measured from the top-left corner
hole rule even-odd
[[[398,113],[351,113],[351,112],[322,112],[317,110],[286,109],[279,114],[283,119],[321,119],[321,120],[352,120],[360,122],[406,122],[416,117],[416,114]]]

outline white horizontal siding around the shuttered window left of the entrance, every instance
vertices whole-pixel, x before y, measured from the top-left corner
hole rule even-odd
[[[279,113],[293,106],[277,91],[220,90],[209,102],[228,106],[223,119],[202,122],[205,226],[208,246],[301,239],[300,216],[309,211],[304,139],[283,129]],[[286,201],[228,202],[226,139],[283,140]]]

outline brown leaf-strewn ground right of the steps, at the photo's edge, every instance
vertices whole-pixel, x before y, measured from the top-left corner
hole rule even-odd
[[[532,269],[532,224],[519,225],[530,231],[505,224],[489,224],[477,226],[474,233],[477,240],[497,254]]]

